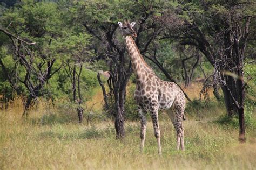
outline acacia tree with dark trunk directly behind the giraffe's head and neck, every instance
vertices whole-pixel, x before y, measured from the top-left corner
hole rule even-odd
[[[109,87],[113,95],[113,108],[110,114],[115,117],[116,137],[125,136],[124,103],[126,85],[132,74],[129,57],[125,53],[124,37],[118,30],[117,22],[131,19],[137,22],[136,44],[145,53],[151,42],[160,34],[160,27],[153,22],[153,16],[163,3],[153,1],[114,2],[89,1],[80,3],[78,19],[89,34],[94,37],[95,51],[105,55],[109,65]]]

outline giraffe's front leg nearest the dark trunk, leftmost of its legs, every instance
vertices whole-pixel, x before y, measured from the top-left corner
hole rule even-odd
[[[146,138],[146,111],[139,108],[139,117],[140,117],[140,152],[143,151],[145,138]]]

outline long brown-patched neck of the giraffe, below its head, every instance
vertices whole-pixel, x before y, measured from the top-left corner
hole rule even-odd
[[[133,38],[131,36],[126,36],[125,42],[126,50],[129,53],[131,59],[132,69],[134,74],[136,75],[136,80],[145,77],[142,75],[148,75],[150,73],[155,75],[153,70],[147,65],[142,55],[140,54],[139,49],[137,48]]]

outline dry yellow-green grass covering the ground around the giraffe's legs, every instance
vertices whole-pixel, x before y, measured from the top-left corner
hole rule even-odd
[[[39,103],[22,119],[21,98],[0,111],[0,169],[255,169],[255,126],[246,131],[246,144],[238,144],[238,128],[216,123],[224,106],[187,105],[185,152],[176,151],[176,132],[160,114],[163,155],[150,120],[143,153],[139,152],[139,122],[126,122],[126,138],[116,140],[114,123],[95,119],[78,124],[72,108],[56,109]]]

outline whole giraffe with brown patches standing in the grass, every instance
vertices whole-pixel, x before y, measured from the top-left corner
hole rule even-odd
[[[146,113],[149,112],[157,139],[158,153],[161,154],[160,129],[158,122],[158,111],[165,110],[177,132],[177,146],[184,151],[184,118],[185,95],[183,91],[173,82],[160,80],[154,71],[144,61],[133,38],[137,37],[133,26],[136,24],[125,21],[118,22],[125,36],[126,50],[130,56],[132,69],[136,76],[136,90],[134,99],[138,105],[140,116],[140,151],[143,151],[146,137]],[[184,118],[185,119],[185,118]]]

